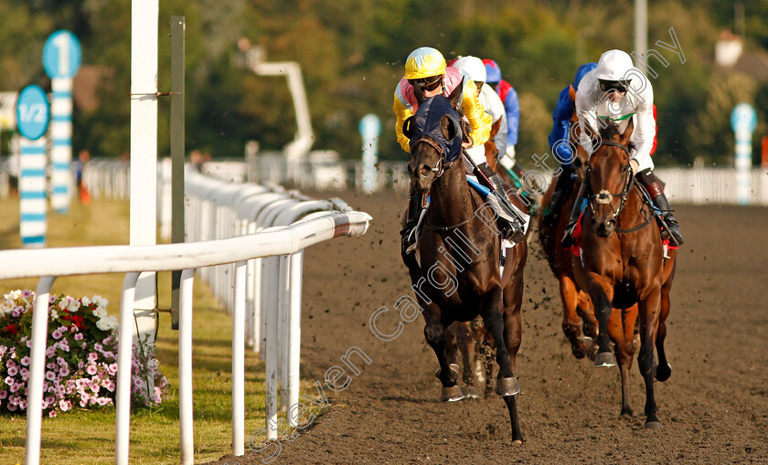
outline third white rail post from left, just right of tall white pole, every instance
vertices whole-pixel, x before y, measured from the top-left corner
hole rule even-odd
[[[192,284],[195,269],[181,272],[178,318],[178,419],[181,429],[181,463],[195,463],[192,404]]]

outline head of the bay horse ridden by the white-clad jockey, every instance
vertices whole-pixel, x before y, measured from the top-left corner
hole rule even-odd
[[[592,195],[590,209],[592,224],[598,236],[607,238],[616,228],[629,188],[632,186],[632,169],[629,142],[634,129],[632,120],[624,130],[612,122],[600,132],[600,146],[592,153],[588,164],[588,176]]]

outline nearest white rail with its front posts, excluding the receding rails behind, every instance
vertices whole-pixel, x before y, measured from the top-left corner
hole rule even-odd
[[[251,259],[281,256],[278,265],[285,265],[288,274],[280,274],[285,289],[292,294],[301,289],[301,268],[288,268],[283,256],[301,256],[301,250],[330,238],[359,236],[368,230],[371,218],[366,213],[323,212],[304,218],[290,226],[269,227],[261,232],[236,238],[200,240],[184,244],[155,246],[101,246],[77,248],[47,248],[37,250],[6,250],[0,252],[0,262],[14,263],[0,269],[0,279],[41,277],[32,322],[32,348],[27,396],[27,464],[39,463],[42,427],[43,379],[45,349],[48,339],[48,294],[57,276],[126,273],[120,302],[118,343],[118,373],[116,393],[115,462],[128,463],[130,433],[130,376],[133,339],[133,293],[136,280],[143,271],[183,269],[179,302],[179,423],[181,462],[194,461],[192,404],[192,278],[195,269],[235,263],[233,279],[232,317],[232,449],[238,456],[244,453],[244,351],[247,294],[247,263]],[[293,265],[293,259],[290,261]],[[204,268],[205,269],[205,268]],[[279,269],[274,269],[275,275]],[[272,294],[271,294],[272,295]],[[295,296],[292,297],[292,299]],[[263,301],[262,301],[263,302]],[[268,437],[276,438],[278,334],[287,333],[291,343],[298,344],[295,330],[299,325],[296,314],[286,312],[284,295],[266,303],[266,403]],[[292,301],[300,311],[300,301]],[[281,324],[283,327],[281,327]],[[281,343],[280,346],[283,344]],[[280,349],[281,351],[283,349]],[[290,348],[298,364],[298,346]],[[293,360],[291,364],[293,366]],[[298,373],[297,366],[293,368]],[[286,370],[286,372],[291,370]],[[297,376],[295,386],[298,389]],[[293,395],[293,393],[292,393]],[[295,396],[297,397],[297,395]],[[297,401],[297,400],[296,400]],[[272,422],[269,421],[272,419]]]

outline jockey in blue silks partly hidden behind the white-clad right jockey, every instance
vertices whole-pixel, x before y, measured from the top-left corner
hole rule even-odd
[[[573,185],[573,160],[576,159],[576,153],[571,150],[571,120],[576,111],[576,91],[579,90],[579,82],[592,69],[597,68],[597,63],[586,63],[581,65],[576,71],[573,83],[563,90],[560,90],[558,104],[555,111],[552,111],[552,132],[549,132],[549,147],[552,153],[560,162],[562,172],[555,183],[555,190],[552,192],[552,198],[549,200],[547,209],[544,210],[544,223],[552,226],[558,221],[560,215],[560,206],[565,193]],[[564,141],[561,142],[561,141]]]

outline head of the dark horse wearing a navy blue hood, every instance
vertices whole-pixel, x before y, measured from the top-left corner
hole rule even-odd
[[[419,108],[405,121],[403,133],[411,140],[408,174],[418,192],[429,192],[432,183],[461,155],[462,129],[455,110],[462,88],[456,87],[448,98],[443,95],[425,99],[414,88]]]

